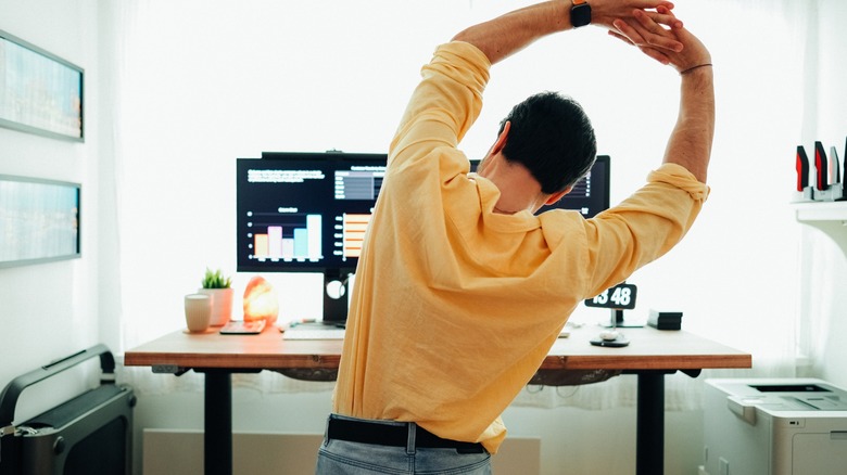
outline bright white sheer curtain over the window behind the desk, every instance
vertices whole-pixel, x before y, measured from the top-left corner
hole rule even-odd
[[[115,275],[106,304],[119,325],[104,325],[112,341],[126,349],[181,329],[182,295],[206,267],[233,274],[237,293],[243,290],[252,275],[235,272],[237,157],[384,151],[434,46],[529,3],[136,0],[104,8],[119,50],[111,65],[116,257],[104,266],[104,275]],[[809,9],[788,0],[677,3],[716,64],[712,194],[683,244],[630,280],[640,292],[634,312],[682,310],[685,330],[754,354],[751,371],[707,375],[789,376],[799,231],[787,202],[808,92],[800,65],[810,61]],[[597,28],[557,35],[494,67],[482,115],[462,147],[481,157],[514,103],[561,90],[583,104],[599,152],[612,157],[617,202],[660,162],[678,89],[672,70]],[[319,317],[319,277],[264,277],[280,294],[281,321]],[[605,318],[589,309],[573,316],[584,324]],[[149,390],[198,381],[132,374]],[[701,378],[669,377],[669,407],[698,407]],[[265,373],[236,384],[331,388]],[[621,376],[528,388],[518,403],[634,406],[634,395],[633,378]]]

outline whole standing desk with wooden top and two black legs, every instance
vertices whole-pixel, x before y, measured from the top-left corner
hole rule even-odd
[[[625,329],[623,348],[592,346],[599,329],[583,326],[559,338],[540,367],[544,372],[612,370],[637,374],[636,474],[660,475],[665,462],[665,375],[677,371],[696,377],[703,369],[750,368],[753,358],[684,331]],[[276,328],[260,335],[189,334],[177,331],[126,352],[127,367],[152,367],[155,373],[205,375],[204,470],[232,473],[232,373],[309,370],[316,378],[338,370],[341,341],[287,341]]]

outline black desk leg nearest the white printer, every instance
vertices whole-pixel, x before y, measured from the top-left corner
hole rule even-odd
[[[635,473],[665,473],[665,372],[639,373]]]

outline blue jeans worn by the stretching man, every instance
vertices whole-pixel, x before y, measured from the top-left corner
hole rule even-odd
[[[332,414],[330,418],[350,419]],[[369,421],[397,425],[392,421]],[[317,458],[316,475],[429,474],[491,475],[491,455],[459,453],[456,449],[378,446],[328,439]]]

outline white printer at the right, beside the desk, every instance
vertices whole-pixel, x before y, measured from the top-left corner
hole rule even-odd
[[[847,391],[821,380],[706,380],[700,475],[847,474]]]

